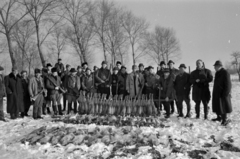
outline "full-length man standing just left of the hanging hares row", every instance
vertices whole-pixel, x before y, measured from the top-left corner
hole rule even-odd
[[[68,101],[68,114],[72,110],[72,104],[74,104],[74,113],[77,113],[77,98],[79,97],[79,86],[81,83],[77,77],[77,71],[75,68],[71,68],[70,75],[67,80],[67,101]]]

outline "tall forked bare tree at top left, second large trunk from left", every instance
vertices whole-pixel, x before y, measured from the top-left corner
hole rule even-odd
[[[42,49],[43,43],[62,19],[59,16],[57,18],[55,13],[59,5],[58,0],[24,0],[23,4],[35,24],[37,48],[44,66],[46,61]]]

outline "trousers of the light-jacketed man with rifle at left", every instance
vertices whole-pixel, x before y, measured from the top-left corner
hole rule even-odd
[[[39,94],[37,99],[33,102],[33,118],[37,118],[42,115],[43,100],[43,94]]]

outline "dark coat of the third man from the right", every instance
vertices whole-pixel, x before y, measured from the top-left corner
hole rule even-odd
[[[174,89],[177,97],[189,97],[191,91],[190,75],[186,72],[178,74],[174,81]]]

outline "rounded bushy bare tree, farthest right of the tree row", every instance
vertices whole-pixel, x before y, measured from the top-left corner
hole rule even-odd
[[[148,55],[159,64],[170,58],[179,58],[179,42],[173,29],[156,26],[153,32],[145,35],[144,44]]]

